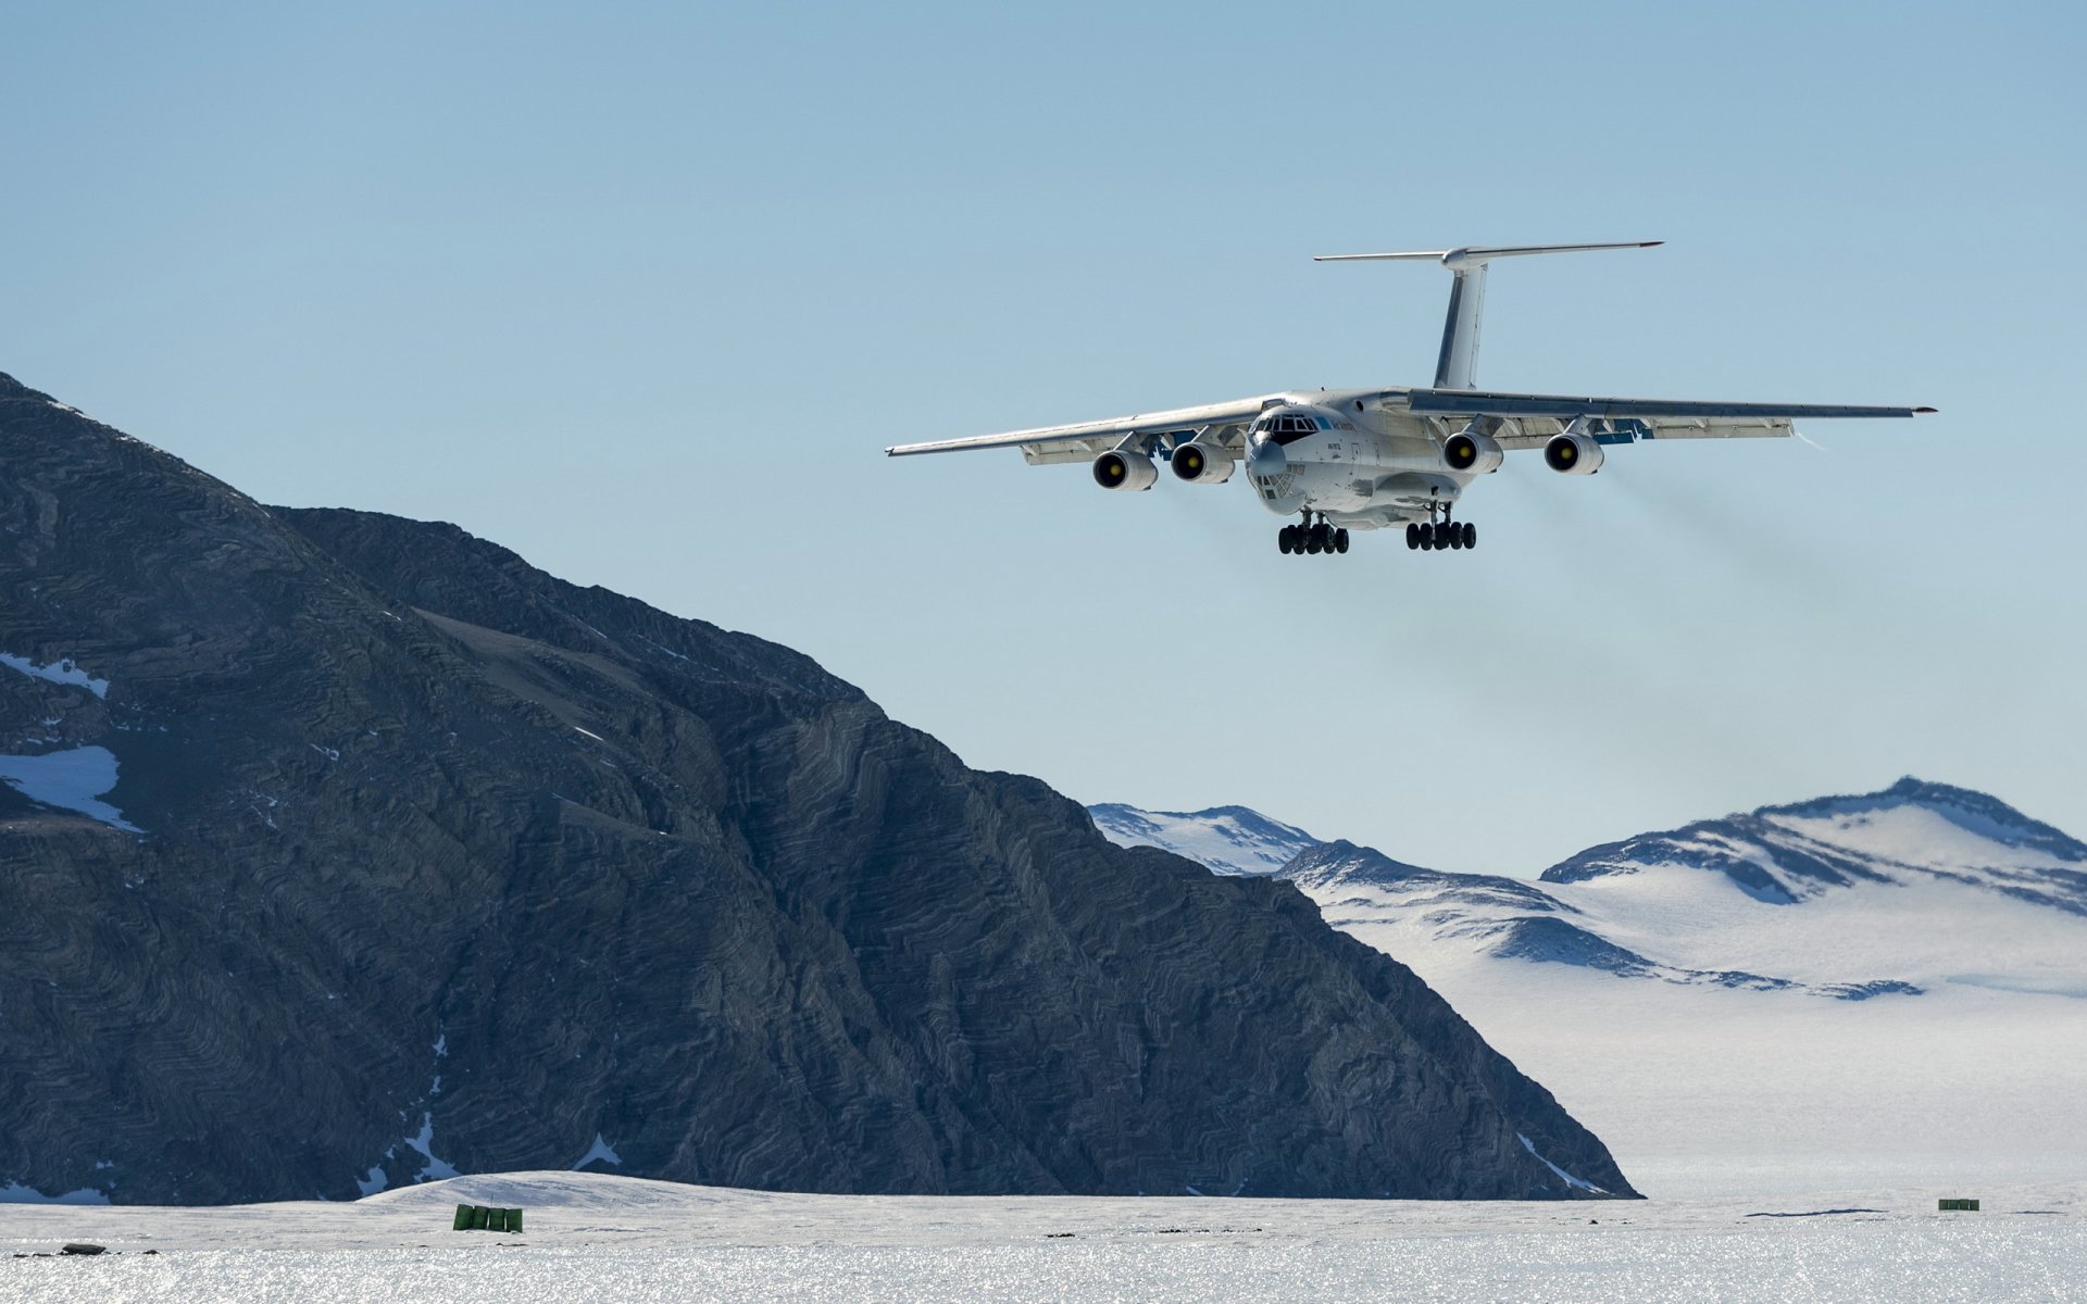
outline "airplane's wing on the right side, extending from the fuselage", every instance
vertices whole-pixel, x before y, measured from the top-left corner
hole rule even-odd
[[[1388,392],[1386,399],[1396,399]],[[1849,407],[1828,403],[1703,403],[1695,399],[1603,399],[1590,394],[1501,394],[1490,390],[1407,390],[1407,409],[1423,417],[1503,417],[1503,449],[1538,449],[1574,419],[1590,421],[1594,440],[1776,438],[1801,417],[1912,417],[1933,407]]]

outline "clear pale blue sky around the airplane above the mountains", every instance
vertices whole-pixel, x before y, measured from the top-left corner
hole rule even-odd
[[[799,647],[983,768],[1534,872],[1899,774],[2087,835],[2066,4],[23,4],[0,369]],[[1484,547],[883,444],[1432,373],[1930,403]],[[4,467],[0,467],[4,474]]]

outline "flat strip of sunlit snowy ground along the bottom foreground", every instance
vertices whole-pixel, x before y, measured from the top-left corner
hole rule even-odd
[[[787,1196],[459,1177],[355,1204],[0,1206],[0,1298],[111,1300],[2077,1300],[2087,1193],[1448,1204]],[[524,1235],[451,1231],[520,1206]],[[8,1258],[92,1241],[96,1258]],[[144,1254],[159,1250],[159,1254]]]

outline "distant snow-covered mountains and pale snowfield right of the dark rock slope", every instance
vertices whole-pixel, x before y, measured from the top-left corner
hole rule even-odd
[[[1983,793],[1905,778],[1532,878],[1421,868],[1244,807],[1092,816],[1119,843],[1300,887],[1590,1118],[1651,1193],[2087,1162],[2087,845]]]

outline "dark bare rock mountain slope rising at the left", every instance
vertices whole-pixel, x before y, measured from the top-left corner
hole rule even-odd
[[[4,376],[0,530],[0,1187],[1632,1193],[1290,885],[789,649]]]

